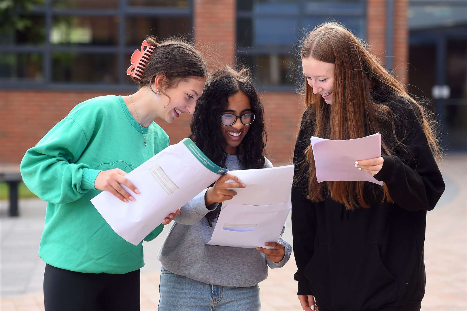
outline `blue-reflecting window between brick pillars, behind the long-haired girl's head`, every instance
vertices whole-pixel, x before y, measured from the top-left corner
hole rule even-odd
[[[366,0],[237,0],[237,60],[261,89],[290,91],[302,81],[298,42],[325,21],[364,39],[365,14]]]

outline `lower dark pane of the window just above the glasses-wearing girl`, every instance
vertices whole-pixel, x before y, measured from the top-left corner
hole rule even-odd
[[[261,85],[295,85],[300,79],[300,68],[294,55],[238,56],[241,64],[249,67]]]

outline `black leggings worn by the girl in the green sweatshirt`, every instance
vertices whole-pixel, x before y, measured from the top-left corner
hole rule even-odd
[[[44,302],[45,311],[138,311],[140,270],[81,273],[46,264]]]

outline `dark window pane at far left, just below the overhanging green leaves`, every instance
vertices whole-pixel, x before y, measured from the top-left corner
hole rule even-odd
[[[8,29],[0,34],[1,44],[42,44],[45,42],[45,17],[41,15],[19,16],[19,29]]]

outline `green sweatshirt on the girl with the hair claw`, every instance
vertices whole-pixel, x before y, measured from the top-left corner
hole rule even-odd
[[[48,202],[39,247],[44,262],[89,273],[123,274],[144,266],[142,242],[123,240],[90,201],[100,193],[94,181],[101,170],[128,173],[169,145],[155,122],[142,131],[121,96],[101,96],[74,107],[26,152],[24,183]],[[161,224],[144,240],[162,230]]]

